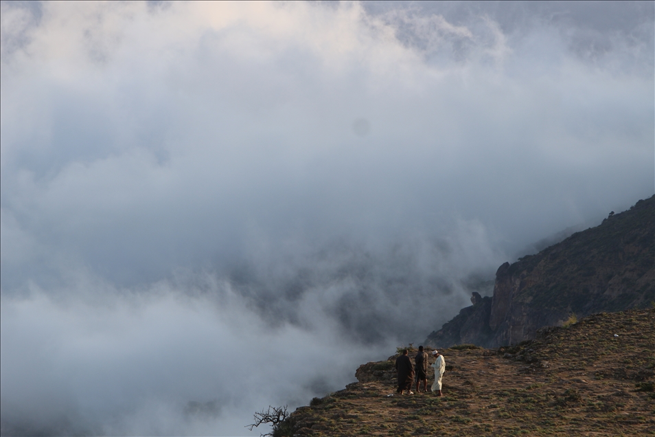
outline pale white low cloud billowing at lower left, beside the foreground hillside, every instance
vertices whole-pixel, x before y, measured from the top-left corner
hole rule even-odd
[[[336,390],[371,354],[327,330],[271,329],[225,284],[192,299],[166,282],[87,285],[104,293],[3,298],[3,434],[245,435],[260,405]]]

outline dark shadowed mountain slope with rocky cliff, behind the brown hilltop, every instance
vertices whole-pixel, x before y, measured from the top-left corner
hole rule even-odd
[[[425,344],[516,344],[572,314],[650,305],[655,301],[655,196],[536,255],[505,262],[496,271],[493,298],[474,295],[471,301]]]

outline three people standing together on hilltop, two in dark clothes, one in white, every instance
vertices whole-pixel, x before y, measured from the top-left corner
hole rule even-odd
[[[436,358],[432,367],[435,369],[435,382],[432,385],[432,391],[441,396],[441,377],[446,372],[446,359],[441,355],[438,350],[432,351],[433,357]],[[416,366],[414,366],[414,363]],[[419,351],[414,357],[414,363],[409,358],[409,351],[403,350],[402,355],[395,360],[395,369],[398,371],[398,390],[397,393],[403,394],[404,391],[408,394],[412,392],[412,384],[416,381],[416,391],[421,391],[421,383],[423,383],[424,392],[428,391],[428,354],[423,350],[423,346],[419,346]],[[414,371],[416,369],[416,372]],[[414,378],[416,375],[416,379]]]

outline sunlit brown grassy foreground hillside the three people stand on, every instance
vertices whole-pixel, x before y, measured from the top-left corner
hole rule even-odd
[[[359,382],[314,398],[274,435],[655,435],[654,326],[655,309],[601,313],[513,347],[443,350],[442,397],[396,395],[394,355],[360,366]]]

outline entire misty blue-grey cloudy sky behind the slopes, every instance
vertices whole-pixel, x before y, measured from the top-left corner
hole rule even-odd
[[[654,9],[2,2],[1,434],[258,435],[652,196]]]

